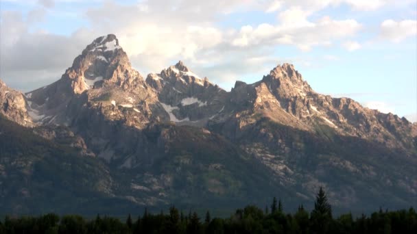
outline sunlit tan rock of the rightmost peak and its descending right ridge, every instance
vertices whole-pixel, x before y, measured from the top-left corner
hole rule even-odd
[[[405,118],[362,107],[352,99],[318,94],[290,64],[276,66],[257,83],[238,81],[230,92],[230,100],[241,108],[229,119],[230,125],[239,125],[237,131],[267,117],[304,131],[318,132],[324,126],[335,134],[379,142],[390,148],[415,151],[417,146],[416,127]]]

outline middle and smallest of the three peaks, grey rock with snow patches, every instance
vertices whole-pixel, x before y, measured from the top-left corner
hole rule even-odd
[[[148,75],[146,82],[158,92],[160,106],[168,114],[161,118],[163,121],[202,127],[226,105],[226,91],[206,77],[201,79],[181,61],[159,74]]]

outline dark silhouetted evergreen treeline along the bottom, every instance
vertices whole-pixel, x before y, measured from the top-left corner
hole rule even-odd
[[[413,208],[400,211],[379,210],[370,216],[353,218],[351,213],[333,218],[325,192],[320,188],[311,212],[302,206],[294,214],[285,213],[281,200],[270,207],[249,205],[237,209],[230,218],[203,218],[191,211],[184,214],[175,207],[169,213],[128,216],[126,221],[101,217],[49,213],[39,217],[5,217],[0,233],[417,233],[417,213]]]

